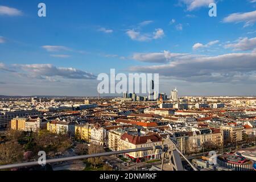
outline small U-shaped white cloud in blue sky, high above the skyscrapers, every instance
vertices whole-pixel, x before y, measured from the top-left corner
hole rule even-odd
[[[137,41],[149,41],[152,39],[160,39],[164,36],[164,31],[162,28],[156,28],[155,32],[152,32],[152,34],[142,34],[140,31],[135,30],[128,30],[126,31],[126,34],[132,39]]]

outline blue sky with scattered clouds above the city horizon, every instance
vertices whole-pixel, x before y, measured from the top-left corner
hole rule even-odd
[[[97,96],[115,69],[159,73],[167,94],[255,96],[255,22],[255,0],[0,0],[0,95]]]

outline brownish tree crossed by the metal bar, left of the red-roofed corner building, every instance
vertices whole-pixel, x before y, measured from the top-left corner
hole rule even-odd
[[[90,144],[88,148],[88,153],[90,154],[98,154],[104,152],[104,148],[102,146],[98,146],[96,144]],[[102,157],[100,158],[89,158],[88,162],[92,164],[93,168],[96,168],[97,165],[102,164]]]

